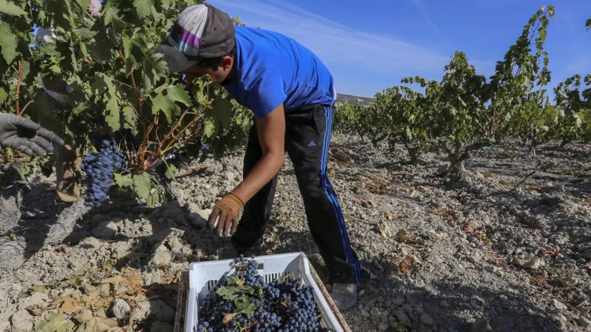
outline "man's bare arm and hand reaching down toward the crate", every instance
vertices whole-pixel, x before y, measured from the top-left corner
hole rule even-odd
[[[262,157],[251,172],[232,192],[217,201],[209,216],[207,225],[213,227],[217,221],[217,232],[236,231],[238,213],[245,202],[266,185],[281,169],[285,162],[285,113],[283,104],[264,117],[256,120],[256,132],[262,148]]]

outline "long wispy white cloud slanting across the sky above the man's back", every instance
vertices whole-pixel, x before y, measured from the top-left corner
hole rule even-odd
[[[346,27],[284,0],[207,2],[230,16],[239,16],[250,27],[274,30],[296,39],[316,52],[330,68],[348,67],[360,74],[440,77],[451,56],[392,36]],[[413,5],[424,12],[422,2],[414,1]]]

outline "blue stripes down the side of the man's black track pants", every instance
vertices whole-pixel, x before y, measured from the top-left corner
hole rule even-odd
[[[322,183],[324,186],[324,193],[326,193],[327,198],[329,199],[330,205],[332,205],[333,212],[335,212],[336,220],[339,225],[340,231],[340,238],[343,242],[343,251],[345,252],[345,260],[349,264],[353,265],[353,269],[355,270],[355,278],[357,282],[361,282],[361,264],[359,260],[353,256],[353,252],[349,242],[349,235],[347,234],[347,230],[345,228],[345,218],[343,217],[342,210],[339,205],[339,199],[337,199],[335,195],[335,191],[333,190],[332,186],[328,182],[328,175],[327,175],[327,162],[329,157],[329,143],[330,143],[330,133],[332,130],[332,108],[326,107],[324,109],[324,119],[326,119],[326,125],[324,126],[324,137],[323,137],[323,144],[322,144],[322,160],[320,165],[320,173],[322,176]]]

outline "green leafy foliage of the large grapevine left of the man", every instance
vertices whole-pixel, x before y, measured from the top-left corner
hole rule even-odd
[[[139,198],[161,200],[145,172],[168,153],[198,138],[219,152],[241,143],[248,111],[227,93],[210,96],[209,77],[185,84],[154,52],[180,11],[196,2],[105,0],[96,12],[88,0],[0,1],[7,14],[0,21],[0,110],[52,123],[48,129],[73,144],[93,132],[131,133],[134,144],[121,142],[130,166],[116,183],[134,183]],[[35,40],[34,26],[53,35]],[[71,87],[62,91],[66,103],[50,107],[42,79],[46,87]]]

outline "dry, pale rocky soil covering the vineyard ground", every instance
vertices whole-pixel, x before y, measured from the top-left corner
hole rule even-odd
[[[372,273],[342,313],[350,328],[591,331],[591,148],[536,152],[478,151],[468,184],[449,189],[437,176],[444,155],[411,166],[402,147],[335,135],[330,179]],[[153,209],[114,199],[61,211],[54,178],[34,179],[20,211],[0,206],[0,330],[172,330],[181,272],[228,244],[204,218],[241,180],[242,156],[194,162],[177,178],[178,202]],[[324,275],[303,211],[287,161],[265,248],[303,251]]]

